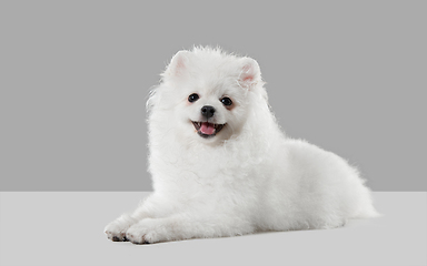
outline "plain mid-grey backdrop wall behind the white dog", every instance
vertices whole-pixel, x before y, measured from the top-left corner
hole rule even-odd
[[[244,4],[245,3],[245,4]],[[289,136],[427,191],[424,1],[1,1],[1,191],[150,191],[145,102],[193,44],[255,58]]]

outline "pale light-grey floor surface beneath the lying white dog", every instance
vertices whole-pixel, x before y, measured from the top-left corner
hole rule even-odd
[[[103,227],[147,192],[1,192],[0,265],[427,265],[427,192],[375,192],[384,214],[328,231],[155,245],[110,242]]]

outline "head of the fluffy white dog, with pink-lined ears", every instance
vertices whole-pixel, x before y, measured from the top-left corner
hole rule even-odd
[[[261,83],[258,63],[219,49],[180,51],[162,74],[156,105],[172,112],[176,133],[206,143],[239,134],[251,112],[248,94]]]

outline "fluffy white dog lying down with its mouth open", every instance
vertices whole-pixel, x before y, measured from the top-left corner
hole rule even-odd
[[[334,228],[377,216],[357,170],[284,135],[254,59],[180,51],[147,106],[155,192],[107,225],[112,241]]]

